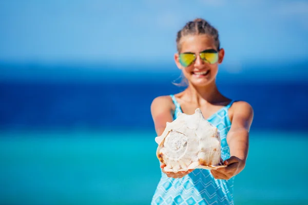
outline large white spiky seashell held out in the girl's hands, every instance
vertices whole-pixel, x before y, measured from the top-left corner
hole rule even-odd
[[[166,172],[226,167],[221,158],[219,131],[203,117],[199,108],[192,115],[179,112],[174,121],[167,122],[155,141],[156,155],[166,164]]]

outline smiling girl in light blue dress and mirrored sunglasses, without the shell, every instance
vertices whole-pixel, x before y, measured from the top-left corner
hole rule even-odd
[[[234,204],[234,176],[245,167],[248,133],[253,109],[244,101],[222,95],[216,86],[218,64],[224,49],[220,48],[218,31],[206,20],[188,22],[177,35],[175,61],[188,83],[178,94],[159,96],[152,101],[151,114],[157,135],[166,122],[177,118],[178,112],[194,114],[200,108],[203,116],[219,129],[221,153],[225,168],[165,172],[151,204]]]

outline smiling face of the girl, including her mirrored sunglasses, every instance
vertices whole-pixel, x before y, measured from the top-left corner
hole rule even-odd
[[[218,64],[222,63],[224,57],[224,50],[217,50],[215,46],[214,38],[208,35],[189,35],[184,36],[181,39],[181,51],[185,54],[188,62],[194,59],[191,64],[183,65],[183,58],[180,58],[180,54],[175,54],[175,61],[179,69],[182,70],[187,80],[194,86],[206,86],[216,79],[218,73]],[[200,53],[203,52],[200,57]],[[218,56],[213,52],[218,52]],[[195,54],[195,55],[194,55]],[[215,59],[216,57],[216,59]],[[189,60],[190,59],[190,60]],[[205,59],[205,60],[204,60]],[[208,59],[208,60],[207,60]]]

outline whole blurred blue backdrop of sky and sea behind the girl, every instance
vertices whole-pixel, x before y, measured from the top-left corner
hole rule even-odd
[[[149,204],[151,101],[174,94],[176,33],[205,18],[217,84],[251,104],[236,204],[308,204],[308,1],[1,1],[0,203]]]

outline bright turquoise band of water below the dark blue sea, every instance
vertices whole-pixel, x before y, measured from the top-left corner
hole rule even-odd
[[[2,204],[149,204],[155,133],[0,133]],[[308,133],[252,133],[236,204],[308,204]]]

